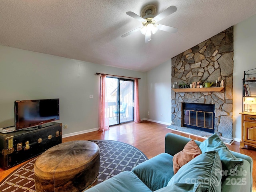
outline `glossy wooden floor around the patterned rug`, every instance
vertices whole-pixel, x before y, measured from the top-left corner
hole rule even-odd
[[[166,125],[164,124],[142,121],[140,124],[130,122],[118,126],[112,126],[110,127],[110,130],[103,133],[94,131],[86,134],[63,138],[62,142],[68,142],[72,140],[116,140],[128,143],[141,150],[148,158],[152,158],[164,152],[164,137],[168,132],[186,136],[188,138],[193,138],[199,141],[204,140],[204,138],[166,129]],[[233,142],[232,145],[227,146],[232,151],[246,154],[253,158],[253,192],[256,192],[256,150],[240,149],[239,142]],[[3,180],[8,174],[10,174],[19,166],[21,166],[21,164],[6,171],[0,169],[0,180]]]

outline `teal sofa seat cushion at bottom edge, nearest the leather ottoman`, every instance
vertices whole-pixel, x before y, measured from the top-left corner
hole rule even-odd
[[[124,171],[89,188],[86,192],[152,192],[133,172]]]

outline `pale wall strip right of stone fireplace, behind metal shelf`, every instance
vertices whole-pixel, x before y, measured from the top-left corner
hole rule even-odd
[[[233,137],[238,141],[241,139],[241,114],[239,113],[242,112],[243,72],[256,68],[255,54],[256,15],[234,26]],[[255,91],[253,93],[255,94]]]

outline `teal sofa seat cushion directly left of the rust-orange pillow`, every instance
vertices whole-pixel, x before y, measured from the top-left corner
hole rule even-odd
[[[173,176],[172,156],[161,153],[132,170],[152,191],[165,187]]]

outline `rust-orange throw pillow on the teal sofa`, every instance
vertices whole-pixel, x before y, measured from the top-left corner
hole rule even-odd
[[[202,154],[199,146],[192,139],[189,141],[183,148],[182,151],[178,152],[173,156],[173,172],[176,172],[186,163],[190,162],[190,160],[194,159],[196,156]]]

